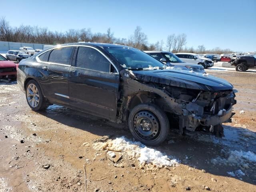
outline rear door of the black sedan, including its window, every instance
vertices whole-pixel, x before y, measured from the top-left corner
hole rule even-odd
[[[68,75],[75,46],[54,48],[37,56],[38,80],[50,102],[69,104]]]

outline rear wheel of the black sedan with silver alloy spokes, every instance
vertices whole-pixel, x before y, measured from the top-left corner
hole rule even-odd
[[[34,111],[42,111],[48,107],[46,98],[44,98],[41,88],[35,80],[30,80],[26,84],[26,100],[30,108]]]

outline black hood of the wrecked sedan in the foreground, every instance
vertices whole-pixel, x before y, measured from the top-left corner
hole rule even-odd
[[[142,82],[154,82],[204,91],[230,90],[233,88],[233,86],[224,79],[184,70],[134,70],[132,72],[137,80]]]

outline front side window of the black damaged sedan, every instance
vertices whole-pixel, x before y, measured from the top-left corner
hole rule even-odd
[[[76,67],[110,72],[110,62],[97,50],[90,47],[79,47],[76,54]]]

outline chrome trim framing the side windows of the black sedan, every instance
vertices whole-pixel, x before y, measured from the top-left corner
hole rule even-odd
[[[48,51],[52,51],[52,50],[54,50],[54,49],[58,49],[58,48],[62,48],[62,47],[72,47],[72,46],[74,46],[74,47],[78,46],[78,48],[79,48],[79,47],[88,47],[88,48],[93,48],[93,49],[97,50],[98,52],[100,52],[100,54],[102,54],[102,55],[110,62],[110,64],[111,64],[112,66],[114,66],[114,68],[115,68],[116,71],[117,71],[117,74],[119,74],[119,71],[118,71],[118,69],[116,68],[116,66],[113,64],[113,62],[112,62],[104,53],[102,53],[102,52],[101,52],[100,50],[98,50],[97,48],[92,47],[92,46],[88,46],[88,45],[77,45],[77,44],[76,44],[76,45],[56,46],[56,47],[54,47],[54,48],[50,48],[50,49],[48,49],[48,50],[46,50],[46,51],[40,53],[39,55],[37,55],[37,56],[36,56],[36,61],[37,61],[37,62],[40,62],[40,63],[46,63],[46,64],[59,64],[59,65],[64,65],[64,66],[71,66],[71,65],[69,65],[69,64],[61,64],[61,63],[53,63],[53,62],[41,61],[41,60],[39,59],[39,56],[42,55],[42,54],[44,54],[44,53],[46,53],[46,52],[48,52]],[[73,67],[76,67],[76,66],[73,66]],[[77,67],[77,68],[80,68],[80,67]],[[87,69],[87,68],[81,68],[81,69]],[[92,69],[87,69],[87,70],[92,70]],[[92,70],[92,71],[98,71],[98,70]],[[111,72],[110,72],[110,69],[109,69],[109,72],[104,72],[104,71],[98,71],[98,72],[111,73]]]

